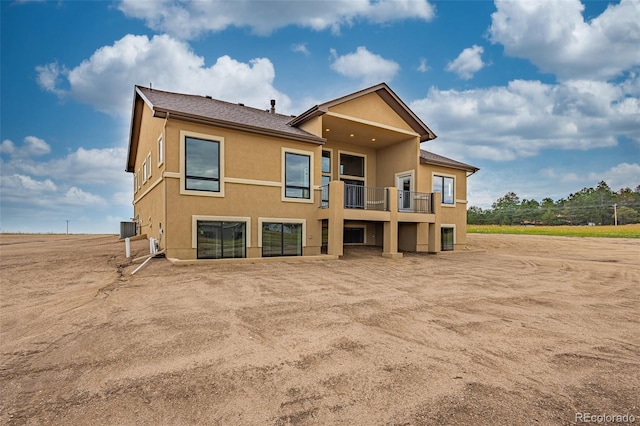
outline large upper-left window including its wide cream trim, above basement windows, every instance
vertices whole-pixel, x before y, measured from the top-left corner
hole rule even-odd
[[[180,193],[224,196],[224,138],[180,132]]]

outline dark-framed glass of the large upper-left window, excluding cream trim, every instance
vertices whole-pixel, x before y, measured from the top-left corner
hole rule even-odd
[[[185,137],[185,188],[220,192],[220,143]]]

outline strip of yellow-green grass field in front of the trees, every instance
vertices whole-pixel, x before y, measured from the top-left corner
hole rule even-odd
[[[621,226],[467,225],[472,234],[554,235],[559,237],[640,238],[640,224]]]

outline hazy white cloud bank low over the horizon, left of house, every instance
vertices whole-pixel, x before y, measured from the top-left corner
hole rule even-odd
[[[25,138],[27,140],[27,138]],[[30,137],[36,154],[46,144]],[[7,147],[8,140],[2,146]],[[48,145],[46,145],[48,146]],[[128,217],[131,213],[131,177],[124,172],[126,149],[79,148],[46,161],[20,156],[25,147],[0,157],[0,228],[12,232],[117,232],[117,222],[83,221],[83,217]],[[40,150],[40,151],[39,151]],[[4,152],[3,152],[4,154]],[[107,202],[109,200],[109,202]]]

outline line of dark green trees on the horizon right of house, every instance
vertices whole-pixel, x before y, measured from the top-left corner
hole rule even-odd
[[[490,209],[467,209],[470,225],[618,225],[640,223],[640,185],[611,190],[606,182],[583,188],[567,198],[541,202],[520,199],[515,192],[498,198]]]

